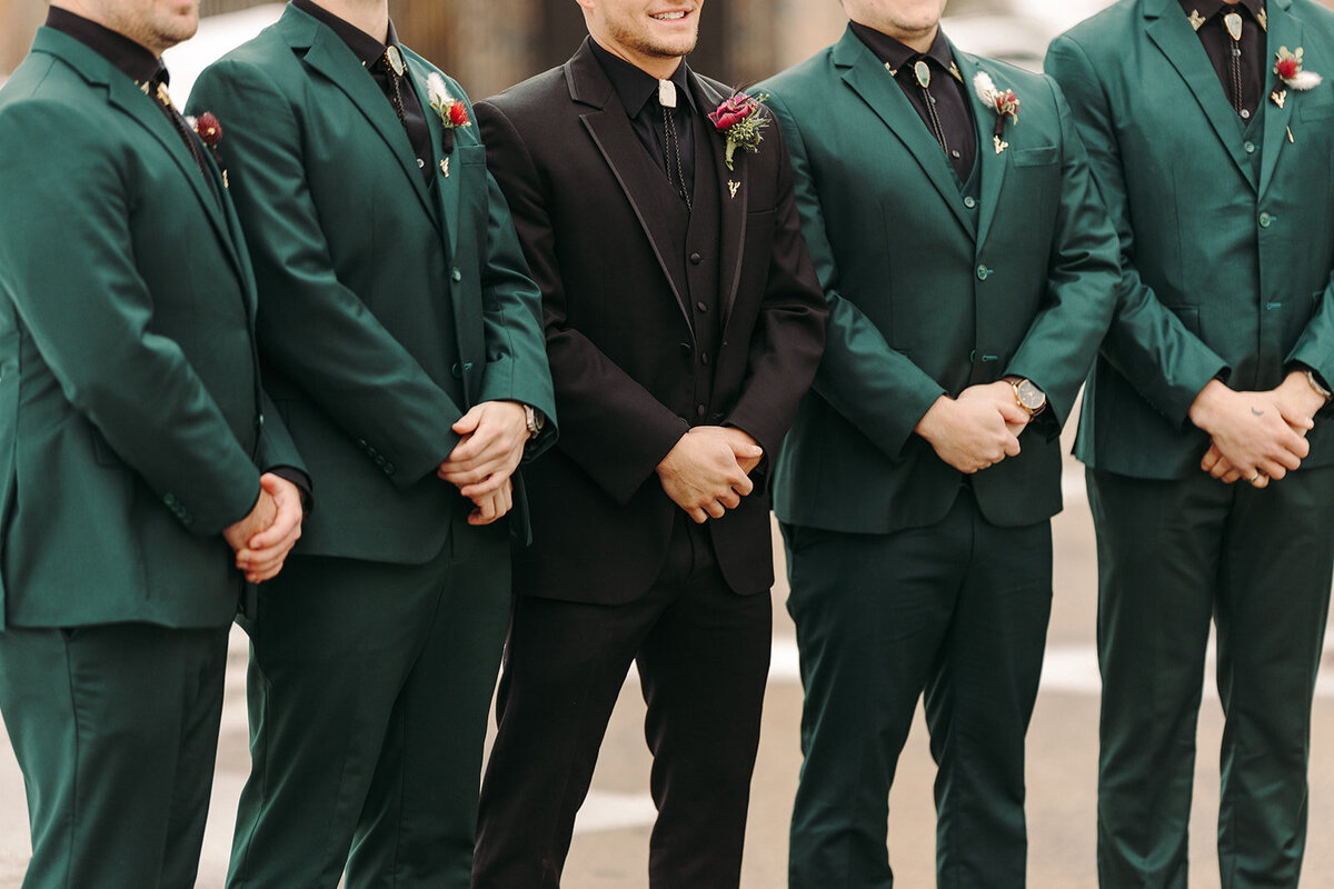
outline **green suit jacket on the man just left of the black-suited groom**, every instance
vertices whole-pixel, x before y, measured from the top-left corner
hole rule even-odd
[[[470,504],[435,476],[459,440],[450,427],[500,399],[555,416],[540,296],[478,128],[455,129],[446,156],[427,96],[436,69],[406,56],[434,188],[352,51],[292,7],[205,71],[189,101],[225,132],[265,372],[319,494],[297,553],[432,558],[451,524],[468,533]]]

